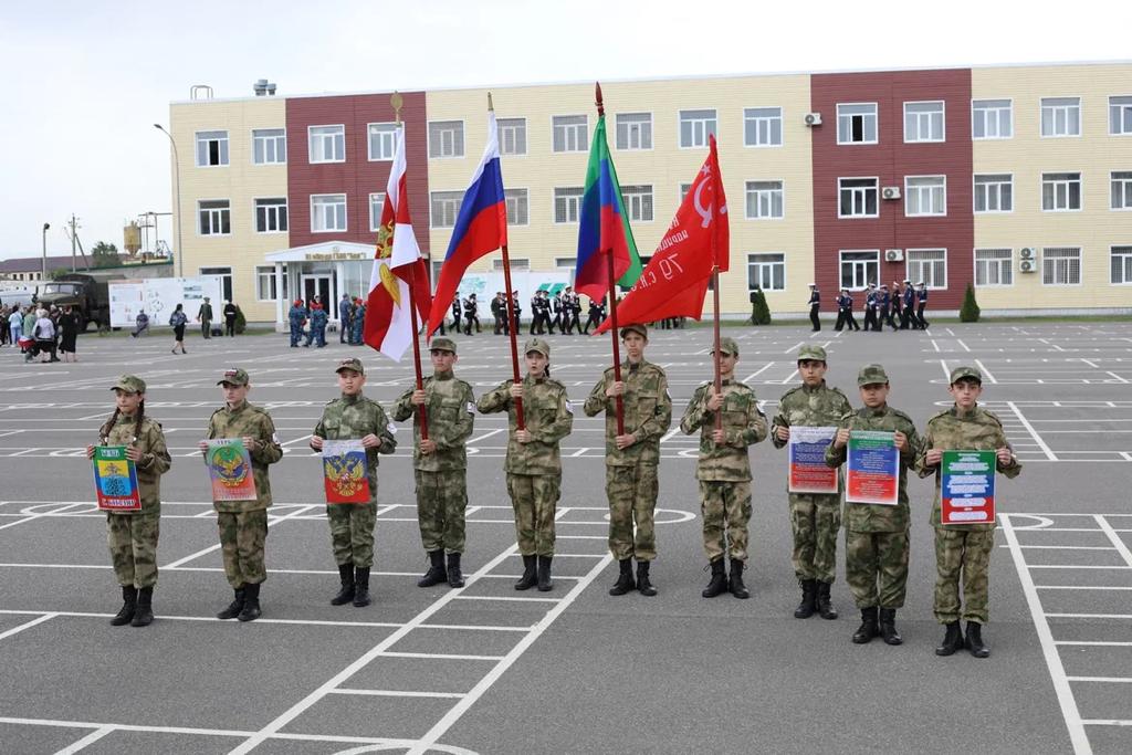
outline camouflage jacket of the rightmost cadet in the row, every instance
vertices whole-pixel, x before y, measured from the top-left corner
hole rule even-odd
[[[1010,447],[1002,422],[992,412],[976,405],[970,412],[960,413],[958,406],[940,412],[927,421],[924,443],[916,457],[916,472],[921,478],[935,475],[935,499],[932,504],[932,525],[945,530],[980,531],[994,530],[994,523],[987,524],[941,524],[940,486],[942,483],[940,466],[927,465],[927,452],[933,448],[954,451],[990,451]],[[1017,478],[1022,472],[1022,463],[1017,458],[1010,464],[995,463],[997,471],[1007,478]]]

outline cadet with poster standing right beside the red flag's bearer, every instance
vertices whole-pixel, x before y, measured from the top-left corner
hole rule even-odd
[[[782,448],[790,440],[790,426],[835,427],[852,411],[849,398],[825,385],[825,350],[807,344],[798,350],[801,385],[787,391],[771,422],[771,441]],[[839,488],[840,488],[840,474]],[[794,573],[801,584],[801,602],[794,615],[807,619],[816,610],[823,619],[838,618],[830,603],[841,529],[841,494],[791,492],[790,527],[794,531]]]

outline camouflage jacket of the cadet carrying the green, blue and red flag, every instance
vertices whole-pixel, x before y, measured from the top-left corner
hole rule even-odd
[[[617,403],[606,395],[615,381],[614,368],[593,386],[585,400],[585,415],[606,412],[606,466],[636,466],[660,463],[660,438],[672,423],[672,400],[668,395],[668,376],[657,364],[641,360],[638,364],[621,363],[625,394],[625,434],[634,434],[636,443],[618,451]]]

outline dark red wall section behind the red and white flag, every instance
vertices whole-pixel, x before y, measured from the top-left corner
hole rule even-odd
[[[392,94],[392,93],[391,93]],[[369,195],[384,192],[389,179],[389,161],[369,162],[369,123],[393,122],[391,94],[334,97],[293,97],[286,101],[288,136],[288,214],[291,246],[343,240],[372,243],[369,230]],[[424,93],[403,93],[401,119],[405,123],[405,160],[409,181],[409,207],[417,242],[429,250],[428,204],[428,121]],[[344,163],[311,164],[307,127],[345,126]],[[310,195],[346,195],[346,231],[310,232]]]

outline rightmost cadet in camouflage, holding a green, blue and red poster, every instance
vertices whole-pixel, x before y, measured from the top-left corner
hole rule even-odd
[[[990,649],[983,642],[983,625],[987,623],[989,602],[990,552],[994,550],[994,523],[942,524],[940,501],[940,463],[945,449],[989,451],[997,457],[998,472],[1017,478],[1022,464],[1014,456],[1002,422],[978,405],[983,394],[983,372],[974,367],[951,371],[949,393],[955,404],[927,421],[924,444],[916,460],[921,478],[935,475],[935,503],[932,526],[935,527],[935,618],[947,627],[936,655],[951,655],[963,646],[959,628],[960,616],[967,619],[967,649],[976,658],[986,658]],[[960,574],[962,573],[962,574]],[[959,580],[963,581],[966,607],[960,606]]]

